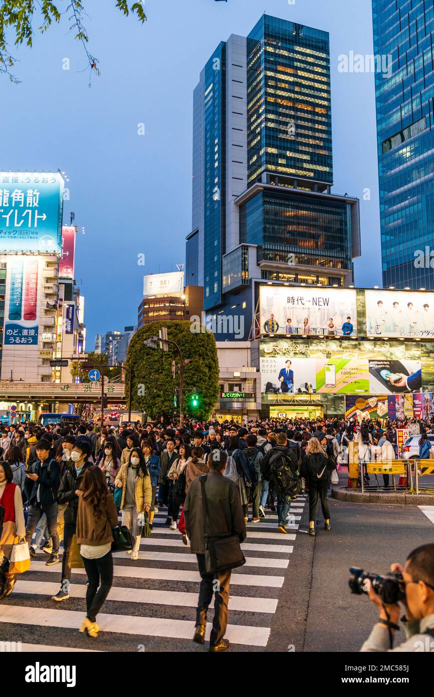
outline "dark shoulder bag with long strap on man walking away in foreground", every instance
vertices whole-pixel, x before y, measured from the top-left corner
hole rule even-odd
[[[205,569],[207,574],[217,574],[223,569],[236,569],[246,563],[238,535],[208,534],[208,510],[206,506],[205,483],[208,475],[201,476],[203,530],[205,537]]]

